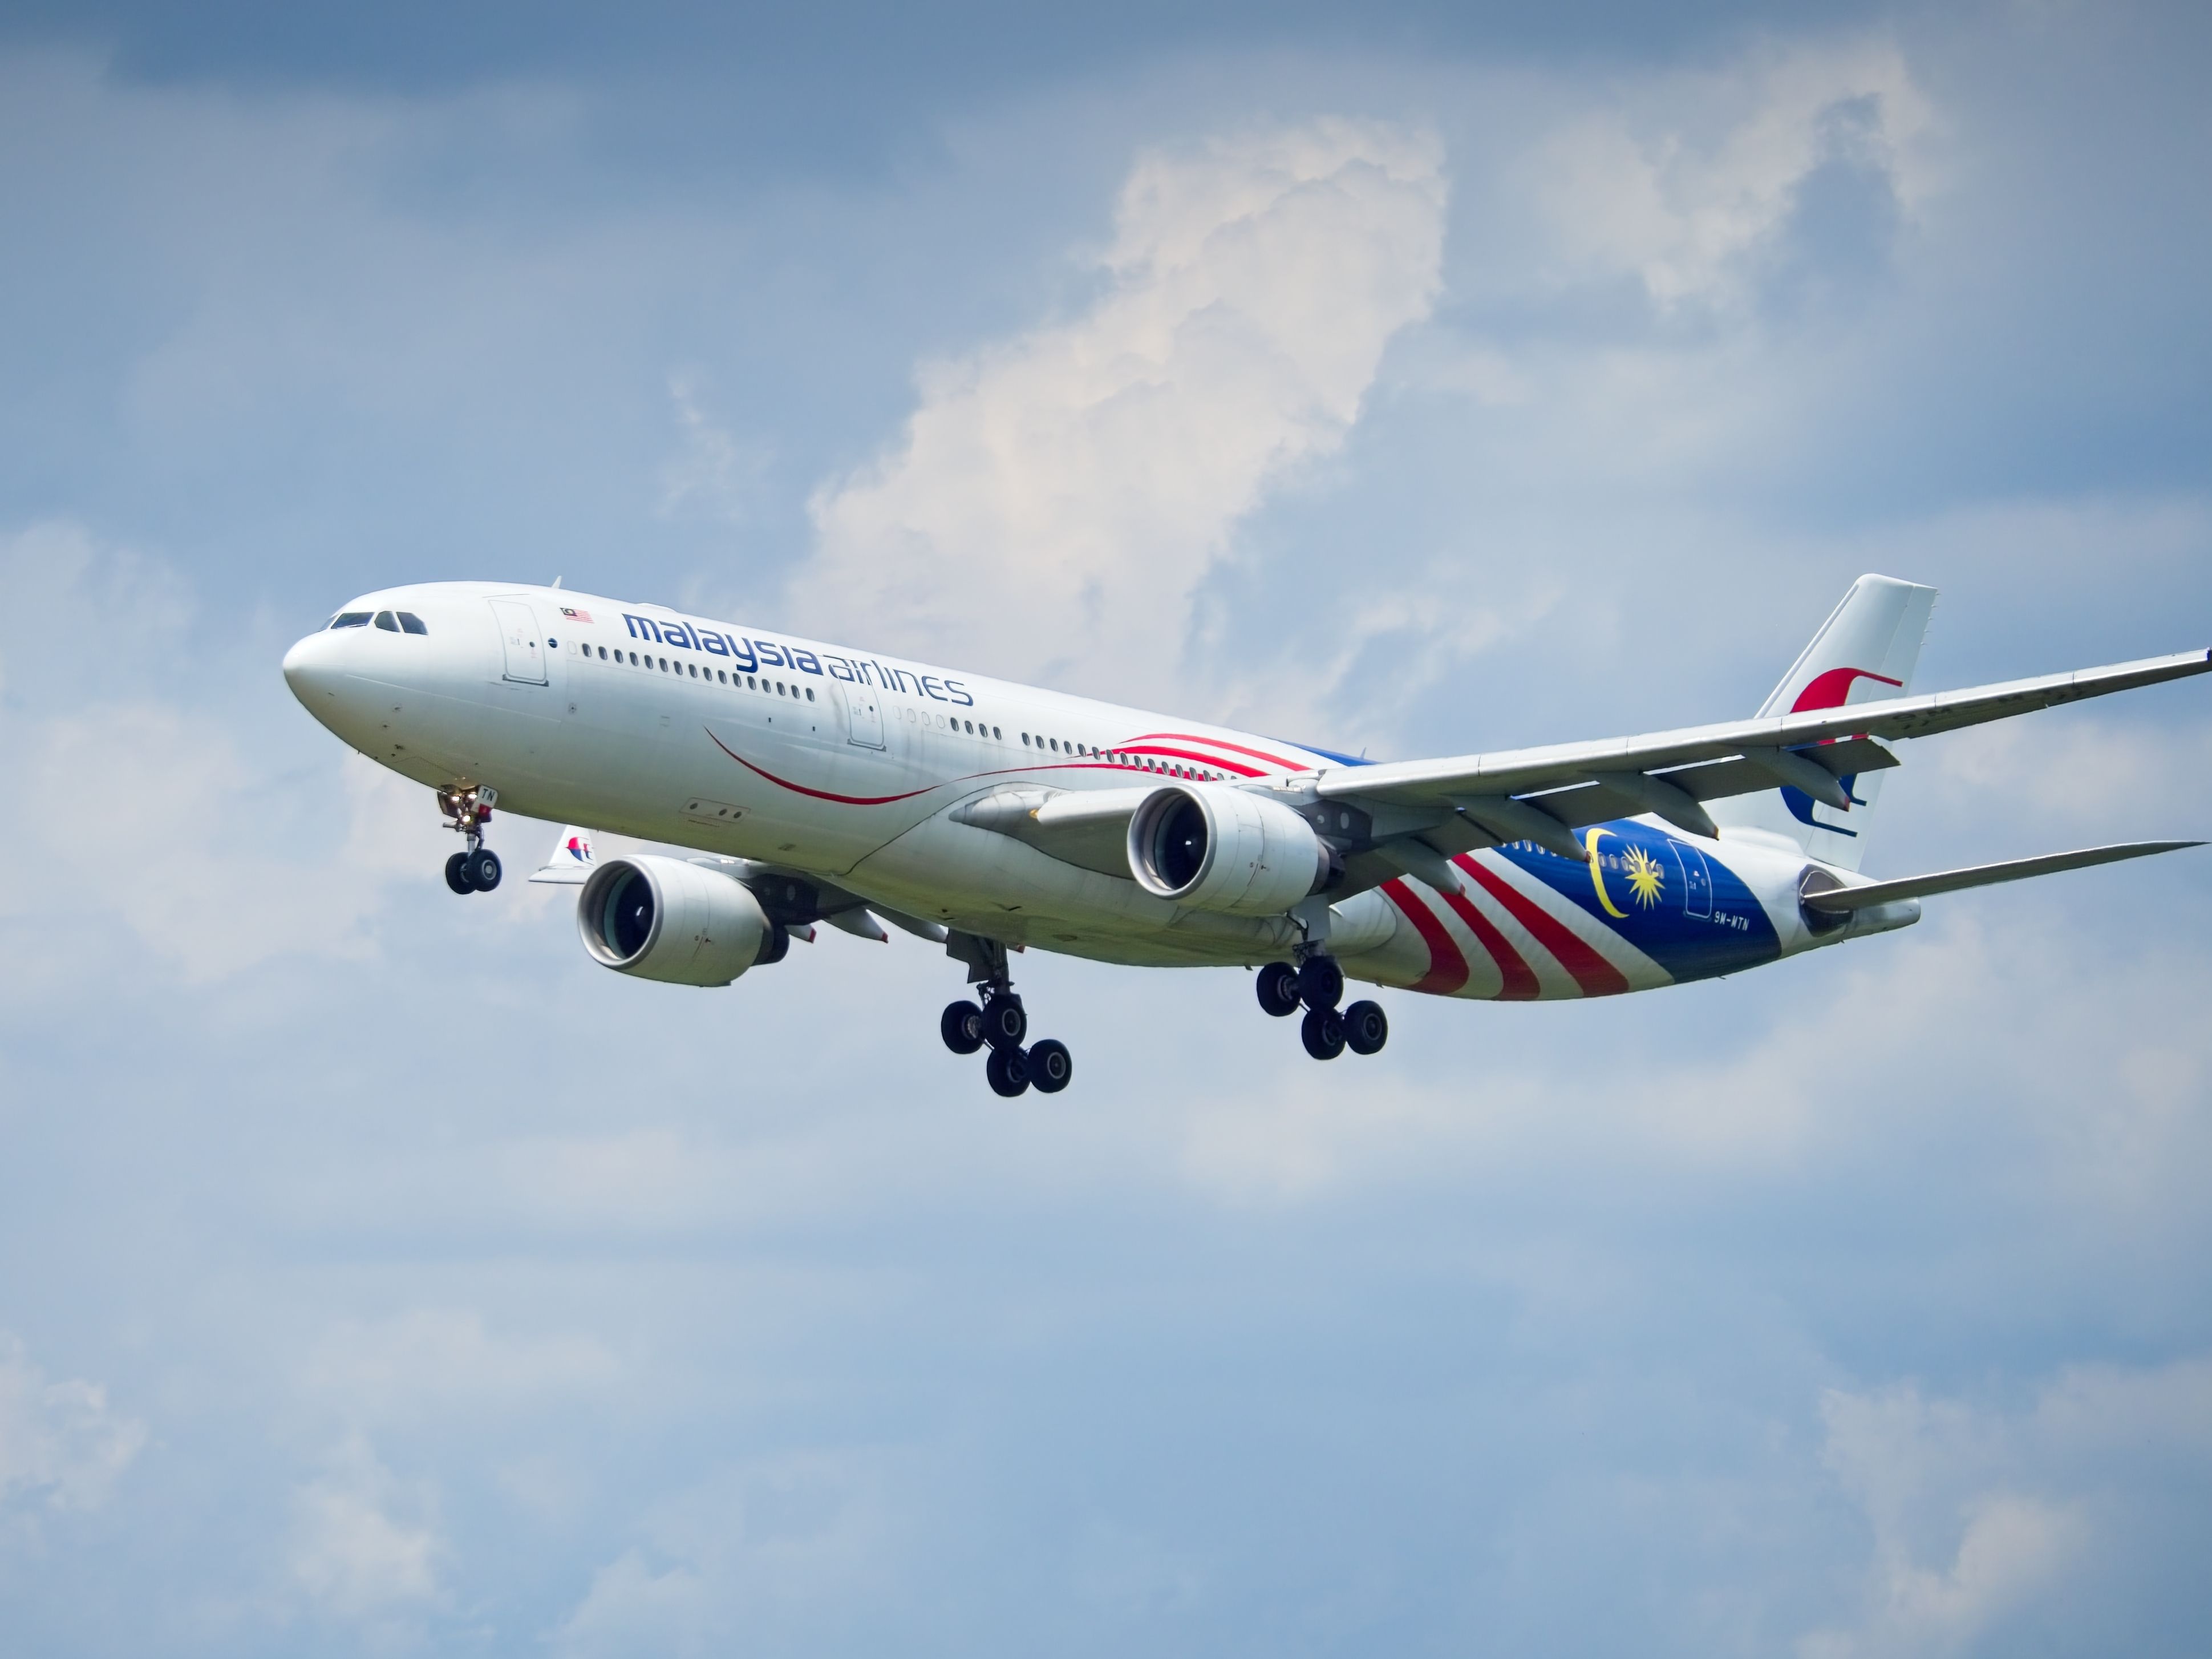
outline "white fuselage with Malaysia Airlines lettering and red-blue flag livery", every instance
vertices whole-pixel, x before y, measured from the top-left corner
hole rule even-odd
[[[1155,779],[1294,799],[1316,772],[1356,765],[1254,732],[560,588],[438,582],[347,606],[385,611],[418,617],[422,633],[325,628],[285,657],[307,710],[380,765],[434,787],[491,785],[500,812],[807,872],[1015,947],[1254,964],[1285,956],[1301,927],[1155,898],[1126,876],[960,823],[949,816],[960,803],[1009,785]],[[1663,916],[1639,914],[1606,874],[1606,845],[1630,843],[1648,843],[1670,872]],[[1794,847],[1730,836],[1723,860],[1721,843],[1624,821],[1599,834],[1588,869],[1544,858],[1462,854],[1464,896],[1411,876],[1356,894],[1329,911],[1329,951],[1376,984],[1517,1000],[1650,989],[1838,936],[1807,929]]]

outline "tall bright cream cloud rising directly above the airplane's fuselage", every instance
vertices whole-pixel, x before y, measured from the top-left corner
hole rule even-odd
[[[1152,150],[1082,314],[931,365],[902,440],[814,498],[827,633],[1124,695],[1270,484],[1336,451],[1440,283],[1436,137],[1318,119]]]

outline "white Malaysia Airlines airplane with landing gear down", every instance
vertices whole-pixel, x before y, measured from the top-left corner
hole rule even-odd
[[[2212,653],[1913,695],[1936,591],[1863,575],[1750,719],[1365,761],[555,586],[367,593],[283,659],[336,737],[436,790],[456,894],[500,885],[493,810],[564,823],[586,953],[721,987],[816,925],[964,964],[945,1009],[1006,1097],[1066,1088],[1011,956],[1245,967],[1316,1060],[1371,1055],[1347,980],[1526,1002],[1650,991],[1869,938],[1920,900],[2174,852],[2137,841],[1860,874],[1891,743],[2212,668]],[[597,858],[593,832],[679,852]]]

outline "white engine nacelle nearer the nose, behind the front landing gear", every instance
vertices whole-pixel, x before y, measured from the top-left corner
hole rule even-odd
[[[728,984],[790,947],[743,885],[653,854],[593,869],[575,927],[593,962],[664,984]]]

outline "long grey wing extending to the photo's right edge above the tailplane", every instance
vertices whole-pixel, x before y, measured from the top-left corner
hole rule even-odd
[[[1697,834],[1714,834],[1699,801],[1792,785],[1840,807],[1840,779],[1896,765],[1880,739],[1933,737],[2205,670],[2212,670],[2212,653],[2185,650],[2000,686],[1686,726],[1644,737],[1332,768],[1321,772],[1314,787],[1323,799],[1367,807],[1464,814],[1500,841],[1562,843],[1562,849],[1573,847],[1564,830],[1637,812],[1652,812]],[[1575,849],[1566,856],[1582,854]]]

